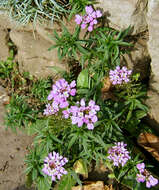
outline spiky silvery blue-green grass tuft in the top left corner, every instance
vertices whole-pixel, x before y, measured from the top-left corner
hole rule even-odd
[[[1,0],[0,8],[9,12],[12,19],[20,24],[49,20],[60,20],[67,12],[67,1],[56,0]]]

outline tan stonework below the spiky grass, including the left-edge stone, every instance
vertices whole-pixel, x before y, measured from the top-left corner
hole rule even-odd
[[[66,26],[73,32],[75,23],[70,25],[66,21]],[[64,60],[59,61],[57,50],[48,51],[53,45],[53,30],[61,33],[60,25],[53,26],[45,23],[44,25],[37,24],[34,27],[32,24],[27,26],[17,25],[6,15],[5,12],[0,12],[0,36],[1,36],[1,51],[0,58],[2,60],[9,56],[9,48],[7,46],[8,39],[17,47],[16,61],[19,63],[21,72],[29,71],[30,74],[40,78],[54,75],[52,66],[58,66],[67,70],[67,64]]]

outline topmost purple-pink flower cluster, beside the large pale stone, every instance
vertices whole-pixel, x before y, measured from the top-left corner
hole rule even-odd
[[[85,29],[88,26],[88,31],[93,31],[93,27],[98,23],[97,18],[102,16],[100,10],[94,11],[92,6],[85,7],[86,14],[84,16],[76,15],[75,22],[81,25],[82,29]]]

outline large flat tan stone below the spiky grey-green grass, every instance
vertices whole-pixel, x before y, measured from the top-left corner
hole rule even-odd
[[[34,37],[32,32],[11,30],[10,38],[18,48],[20,72],[28,71],[39,78],[54,74],[50,66],[67,69],[66,64],[59,61],[56,49],[48,51],[52,43],[46,41],[36,31]]]

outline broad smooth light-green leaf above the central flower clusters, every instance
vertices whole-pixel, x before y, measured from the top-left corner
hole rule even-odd
[[[77,78],[77,87],[78,88],[89,88],[89,75],[88,69],[84,69],[80,72]]]

